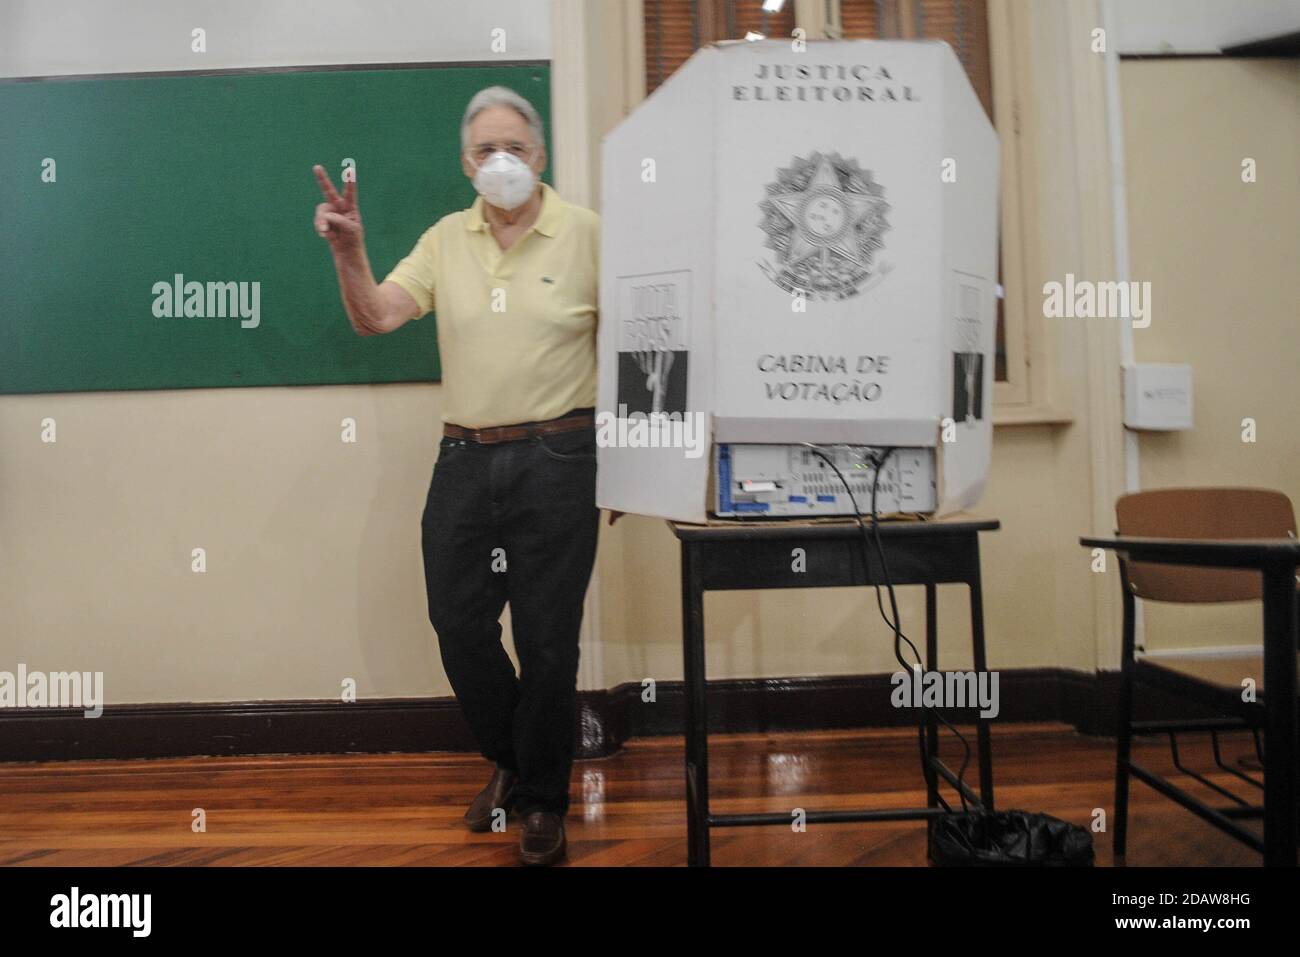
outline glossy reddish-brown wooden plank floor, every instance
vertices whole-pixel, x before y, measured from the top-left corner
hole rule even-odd
[[[974,735],[970,735],[974,741]],[[1235,739],[1228,759],[1245,754]],[[993,732],[1000,807],[1088,824],[1113,813],[1114,742],[1063,726]],[[1184,762],[1213,767],[1209,746]],[[1139,761],[1170,768],[1167,744],[1140,742]],[[959,757],[945,749],[945,758]],[[914,731],[731,735],[710,739],[715,813],[924,805]],[[185,758],[0,766],[3,865],[502,865],[506,833],[468,833],[460,817],[486,781],[481,758],[455,754]],[[972,783],[975,768],[967,772]],[[1228,775],[1213,780],[1253,791]],[[1202,800],[1217,800],[1192,785]],[[572,865],[684,865],[682,744],[640,739],[578,762],[568,818]],[[1130,866],[1247,865],[1260,857],[1188,811],[1132,785]],[[1249,794],[1257,801],[1257,792]],[[207,831],[191,830],[194,809]],[[1109,820],[1108,820],[1109,823]],[[1110,865],[1109,835],[1096,835]],[[712,831],[715,865],[926,863],[919,822]]]

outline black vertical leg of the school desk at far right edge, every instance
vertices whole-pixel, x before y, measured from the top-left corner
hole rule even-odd
[[[1264,863],[1296,866],[1295,567],[1264,572]]]

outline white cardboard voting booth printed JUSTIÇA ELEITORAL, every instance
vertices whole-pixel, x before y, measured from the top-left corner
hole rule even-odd
[[[859,511],[975,505],[997,192],[945,43],[698,51],[603,144],[598,505],[852,514],[809,445]]]

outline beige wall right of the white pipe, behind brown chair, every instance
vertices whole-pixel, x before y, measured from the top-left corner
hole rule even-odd
[[[1300,64],[1126,61],[1140,361],[1190,363],[1196,428],[1141,437],[1141,485],[1248,485],[1300,502]],[[1242,182],[1242,161],[1257,182]],[[1257,441],[1242,441],[1254,419]],[[1258,641],[1258,605],[1148,605],[1150,649]]]

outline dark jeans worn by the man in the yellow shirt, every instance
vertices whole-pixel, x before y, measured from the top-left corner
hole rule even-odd
[[[563,815],[599,529],[595,429],[497,445],[443,438],[422,525],[429,620],[478,748],[519,772],[520,814]],[[500,641],[507,601],[517,677]]]

